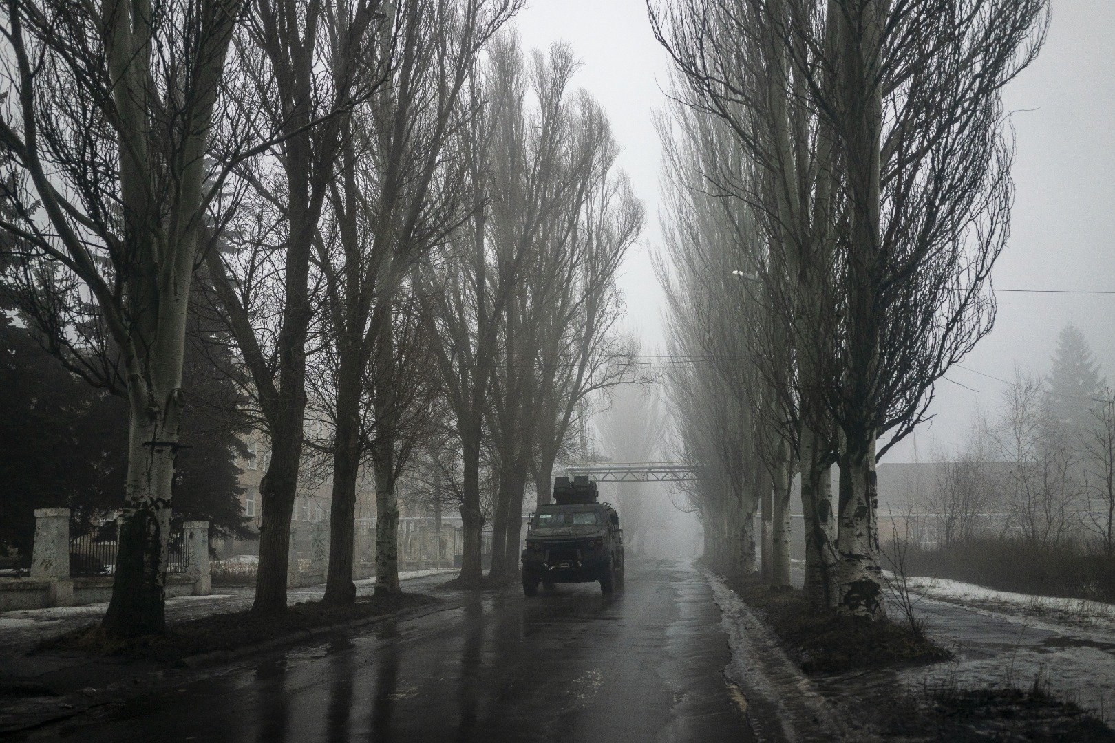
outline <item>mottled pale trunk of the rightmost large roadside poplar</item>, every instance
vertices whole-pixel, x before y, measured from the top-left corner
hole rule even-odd
[[[879,567],[879,507],[875,441],[846,444],[840,472],[840,605],[841,614],[878,619],[883,616],[882,570]]]

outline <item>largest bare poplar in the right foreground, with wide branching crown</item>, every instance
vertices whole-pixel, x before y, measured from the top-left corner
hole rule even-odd
[[[656,32],[706,108],[747,108],[756,91],[772,89],[782,100],[788,87],[814,121],[797,141],[816,131],[832,147],[820,165],[827,177],[782,179],[804,184],[833,215],[817,223],[827,270],[813,276],[822,283],[784,303],[820,301],[822,311],[779,314],[792,329],[803,316],[816,325],[811,373],[840,434],[838,608],[878,617],[876,454],[924,420],[937,380],[991,327],[993,297],[983,290],[1005,245],[1011,192],[1000,91],[1035,58],[1046,3],[964,0],[948,12],[938,0],[677,6],[651,3]],[[745,63],[754,57],[736,41],[754,19],[762,21],[755,48],[775,50],[766,65]],[[737,81],[740,70],[755,69],[773,79]],[[788,109],[758,102],[783,128]],[[734,130],[746,140],[748,129]],[[784,170],[793,151],[785,143],[753,149],[767,174]],[[792,194],[763,173],[757,183],[775,186],[759,203],[762,214],[777,216],[785,241],[795,234],[785,229],[794,211],[782,205]],[[816,198],[822,186],[831,190]],[[788,252],[768,243],[780,276],[777,258]],[[890,440],[876,452],[883,433]]]

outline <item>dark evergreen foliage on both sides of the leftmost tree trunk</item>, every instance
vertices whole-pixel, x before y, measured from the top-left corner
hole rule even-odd
[[[0,284],[0,548],[14,547],[29,559],[35,509],[69,508],[70,528],[81,534],[124,506],[128,405],[59,363],[32,324],[13,319],[2,290]],[[215,327],[191,312],[180,429],[186,447],[175,470],[173,522],[205,520],[213,536],[252,538],[235,463],[237,453],[246,454],[240,434],[248,420],[239,388],[219,371],[231,365],[231,354]]]

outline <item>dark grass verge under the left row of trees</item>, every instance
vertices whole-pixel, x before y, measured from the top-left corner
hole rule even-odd
[[[295,604],[282,614],[254,614],[251,609],[214,614],[171,624],[162,635],[120,639],[89,625],[43,641],[39,653],[79,652],[158,662],[176,662],[192,655],[235,651],[284,635],[343,625],[359,619],[386,617],[398,612],[435,604],[440,599],[421,594],[365,596],[352,606],[327,606],[321,602]]]

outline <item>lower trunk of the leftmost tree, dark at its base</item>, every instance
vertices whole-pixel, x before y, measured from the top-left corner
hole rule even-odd
[[[173,431],[132,413],[124,521],[113,596],[101,620],[101,627],[120,637],[161,633],[166,628],[164,585],[177,413],[173,412],[169,419]],[[159,422],[166,422],[166,418]]]

